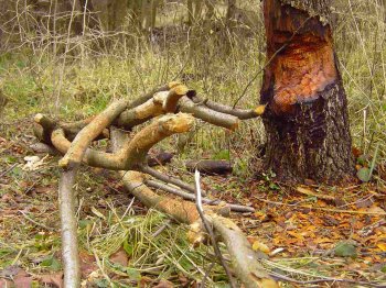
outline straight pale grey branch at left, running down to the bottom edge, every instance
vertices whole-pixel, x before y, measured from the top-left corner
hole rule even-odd
[[[62,171],[58,184],[64,287],[68,288],[81,287],[76,209],[73,192],[76,171],[76,168]]]

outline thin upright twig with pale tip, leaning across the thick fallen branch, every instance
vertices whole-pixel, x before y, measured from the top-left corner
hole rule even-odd
[[[229,285],[230,285],[232,288],[235,288],[236,285],[234,283],[233,277],[232,277],[232,274],[230,274],[230,270],[228,268],[228,265],[226,264],[226,262],[225,262],[225,259],[223,257],[223,254],[219,251],[219,247],[217,245],[216,237],[214,235],[213,229],[212,229],[211,224],[208,223],[208,221],[206,220],[205,214],[204,214],[204,209],[203,209],[202,199],[201,199],[200,171],[197,169],[194,173],[194,181],[195,181],[195,204],[196,204],[196,208],[197,208],[197,212],[200,214],[201,220],[203,221],[205,230],[210,234],[214,252],[215,252],[217,258],[219,259],[221,264],[223,265],[226,275],[229,278]]]

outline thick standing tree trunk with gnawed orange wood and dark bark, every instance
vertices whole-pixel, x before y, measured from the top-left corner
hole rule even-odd
[[[266,168],[279,180],[336,182],[354,162],[329,0],[265,0]]]

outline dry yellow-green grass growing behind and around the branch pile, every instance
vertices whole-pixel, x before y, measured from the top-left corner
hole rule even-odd
[[[349,98],[354,145],[364,152],[368,162],[379,146],[376,164],[385,163],[386,23],[375,0],[341,3],[336,8],[340,21],[334,26],[334,40]],[[260,1],[244,4],[256,13],[260,12]],[[175,14],[180,14],[179,9],[181,7],[175,8]],[[248,37],[244,30],[227,35],[226,41],[232,43],[227,54],[219,48],[224,36],[215,31],[196,27],[193,36],[187,37],[178,27],[170,30],[171,34],[181,33],[179,41],[171,36],[167,42],[162,37],[148,41],[143,35],[117,36],[111,37],[108,49],[96,52],[97,41],[85,36],[71,44],[73,49],[67,55],[53,54],[50,45],[25,45],[6,51],[0,56],[0,88],[10,103],[0,114],[0,135],[7,140],[0,146],[1,167],[22,164],[23,156],[33,153],[28,147],[32,141],[28,135],[32,135],[31,122],[36,112],[65,120],[83,119],[101,111],[111,99],[135,99],[173,78],[184,79],[189,87],[212,100],[233,104],[264,65],[261,20],[247,31]],[[21,38],[26,41],[29,35],[21,35]],[[63,43],[56,44],[63,46]],[[65,65],[62,66],[64,58]],[[253,108],[258,103],[260,79],[258,76],[253,82],[239,107]],[[62,86],[60,95],[58,85]],[[233,198],[244,199],[248,192],[237,189],[237,186],[253,174],[249,160],[256,157],[256,147],[265,141],[260,120],[243,123],[232,134],[199,123],[191,139],[189,148],[176,159],[176,166],[185,158],[230,158],[236,165],[238,182],[211,185],[227,190]],[[175,151],[176,139],[168,140],[163,145]],[[50,157],[44,168],[37,171],[25,171],[22,165],[18,165],[0,186],[0,197],[8,197],[0,203],[0,209],[7,211],[0,221],[0,268],[18,264],[33,275],[61,269],[56,160]],[[104,180],[106,175],[98,173],[85,169],[76,188],[82,208],[78,213],[81,246],[86,255],[99,259],[98,273],[93,275],[92,281],[98,287],[132,287],[140,279],[150,286],[161,278],[173,283],[202,279],[212,263],[211,248],[205,245],[192,248],[185,237],[185,226],[169,223],[157,211],[144,213],[129,196],[120,199],[116,192],[119,187],[111,187],[112,180],[117,179],[110,180],[108,176]],[[285,189],[271,186],[272,175],[267,173],[262,178],[268,179],[264,189],[286,198]],[[383,185],[382,179],[375,180]],[[363,187],[363,191],[365,189]],[[167,229],[153,237],[153,233],[165,224]],[[127,266],[110,261],[121,247],[129,257]],[[339,259],[325,265],[319,257],[305,256],[267,261],[265,265],[270,270],[287,270],[299,279],[310,279],[310,274],[336,276],[335,267],[346,267]],[[108,276],[111,274],[112,278]],[[208,283],[213,287],[226,287],[225,280],[216,264]]]

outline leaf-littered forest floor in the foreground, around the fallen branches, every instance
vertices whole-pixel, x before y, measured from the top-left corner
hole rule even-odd
[[[36,154],[31,118],[2,129],[0,287],[61,287],[58,156]],[[31,155],[40,156],[41,165],[25,165]],[[169,173],[193,178],[171,166]],[[227,287],[222,267],[208,268],[212,248],[192,247],[186,226],[147,211],[114,174],[85,167],[81,175],[75,190],[84,287],[195,287],[205,273],[211,287]],[[211,196],[256,209],[233,218],[264,266],[286,279],[283,287],[385,285],[385,187],[288,187],[267,174],[204,177],[203,186]]]

